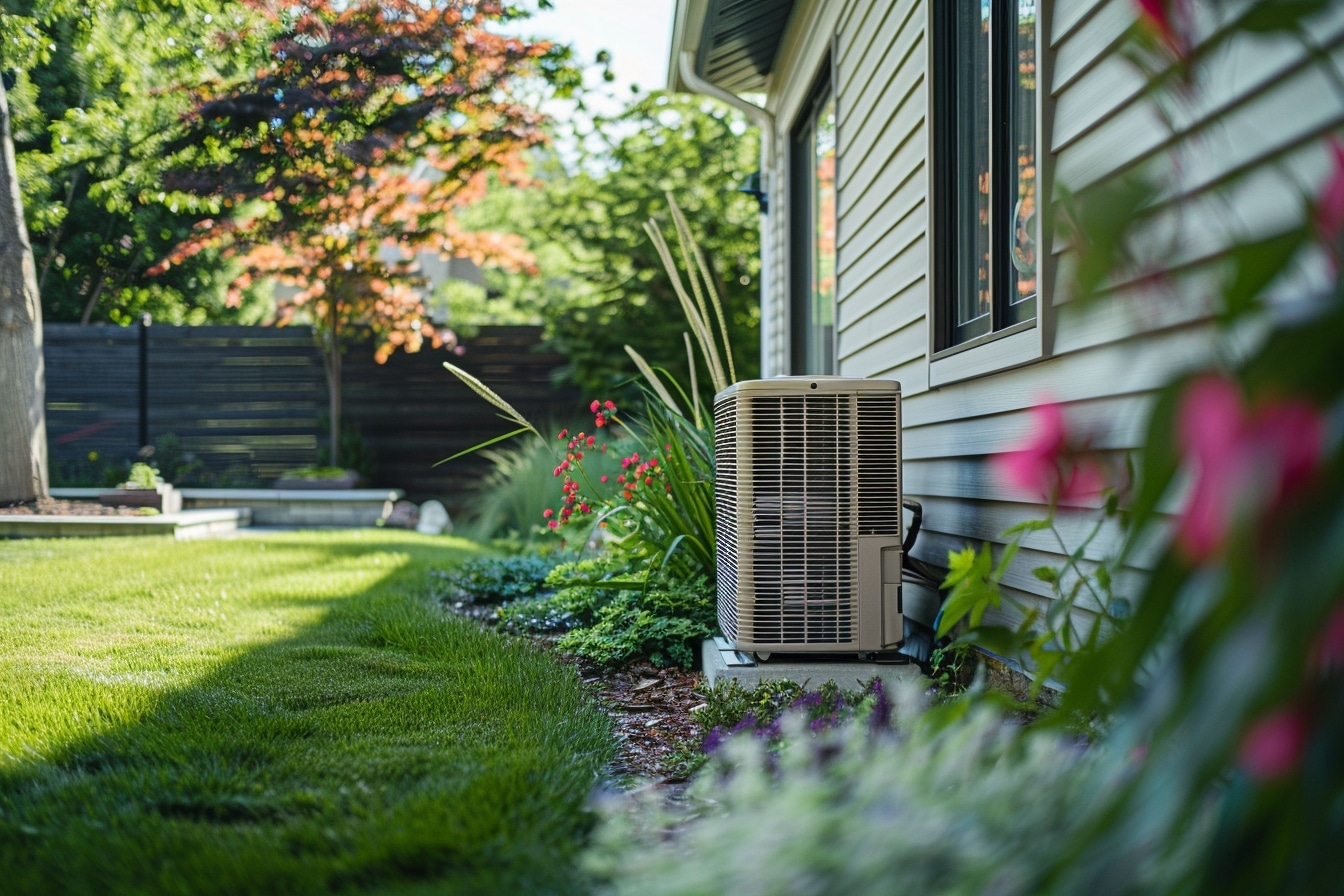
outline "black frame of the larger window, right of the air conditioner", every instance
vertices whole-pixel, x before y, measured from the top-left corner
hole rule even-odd
[[[1040,11],[1038,0],[1036,17]],[[962,82],[968,77],[966,54],[958,38],[960,28],[978,27],[981,0],[939,0],[931,8],[931,69],[933,90],[930,118],[933,126],[930,203],[931,258],[934,289],[933,349],[934,353],[960,352],[965,348],[997,340],[1036,325],[1040,316],[1039,249],[1036,250],[1036,292],[1028,298],[1017,298],[1013,286],[1015,267],[1013,230],[1019,226],[1015,215],[1013,193],[1017,188],[1013,146],[1013,114],[1017,78],[1017,16],[1020,0],[988,0],[989,7],[989,83],[985,91],[988,109],[966,109],[958,105]],[[973,24],[974,23],[974,24]],[[1035,50],[1039,77],[1039,44]],[[1039,82],[1036,89],[1039,90]],[[1034,97],[1035,102],[1035,97]],[[965,249],[965,220],[969,214],[969,191],[978,175],[960,169],[958,138],[972,117],[984,114],[988,122],[988,281],[989,313],[968,322],[958,322],[958,300],[977,283],[964,282],[958,269],[958,253]],[[1039,200],[1040,128],[1031,110],[1034,129],[1035,167],[1038,169],[1036,199]],[[1039,210],[1036,210],[1039,214]]]

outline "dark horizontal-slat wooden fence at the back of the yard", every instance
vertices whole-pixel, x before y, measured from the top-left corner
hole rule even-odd
[[[52,465],[90,451],[130,459],[171,433],[207,470],[266,482],[316,462],[325,443],[327,383],[304,328],[48,324],[44,341]],[[578,412],[577,395],[550,386],[564,359],[539,341],[535,326],[481,328],[461,356],[398,352],[386,364],[371,345],[348,348],[344,415],[374,455],[370,485],[460,508],[484,461],[434,462],[511,429],[445,360],[539,423]]]

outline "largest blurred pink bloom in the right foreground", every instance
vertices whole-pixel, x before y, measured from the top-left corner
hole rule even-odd
[[[1300,400],[1247,410],[1235,383],[1204,376],[1181,399],[1177,442],[1196,478],[1176,541],[1199,563],[1223,547],[1239,519],[1301,492],[1320,462],[1325,422]]]

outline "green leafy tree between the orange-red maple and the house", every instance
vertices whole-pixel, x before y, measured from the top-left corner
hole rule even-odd
[[[491,285],[546,317],[569,359],[562,376],[586,392],[630,398],[625,343],[688,384],[685,318],[644,231],[653,218],[675,246],[671,193],[718,277],[738,373],[753,376],[759,208],[737,188],[758,165],[755,132],[716,101],[653,93],[599,121],[585,144],[573,171],[552,154],[538,163],[535,187],[497,189],[465,214],[472,226],[515,227],[538,258],[540,277],[488,271]]]

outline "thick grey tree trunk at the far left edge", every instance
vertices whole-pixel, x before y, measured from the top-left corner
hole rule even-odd
[[[0,83],[0,504],[47,496],[46,375],[38,269]]]

